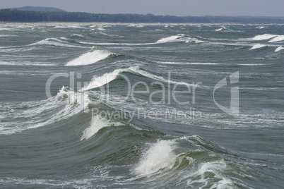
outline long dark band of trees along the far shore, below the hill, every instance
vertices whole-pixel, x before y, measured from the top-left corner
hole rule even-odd
[[[155,16],[153,14],[105,14],[44,12],[0,9],[2,22],[110,22],[110,23],[284,23],[283,18],[242,18],[229,16]]]

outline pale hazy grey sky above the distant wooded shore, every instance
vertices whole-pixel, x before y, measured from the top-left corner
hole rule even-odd
[[[88,13],[175,16],[284,16],[283,0],[0,0],[0,8],[49,6]]]

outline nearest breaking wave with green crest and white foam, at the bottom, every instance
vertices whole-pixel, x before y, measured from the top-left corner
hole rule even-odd
[[[183,147],[179,147],[181,144]],[[237,179],[233,180],[225,171],[237,169],[237,165],[227,164],[217,154],[207,152],[206,149],[211,151],[211,147],[216,151],[219,149],[199,136],[158,140],[143,152],[132,171],[137,178],[147,177],[153,182],[160,182],[156,177],[166,176],[169,181],[163,180],[161,185],[178,179],[180,188],[235,188],[236,185],[244,185]],[[242,173],[237,174],[242,176]]]

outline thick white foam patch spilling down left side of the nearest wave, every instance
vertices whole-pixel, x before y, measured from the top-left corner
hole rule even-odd
[[[145,152],[138,165],[134,168],[134,173],[141,176],[150,176],[161,170],[172,169],[177,159],[174,150],[173,140],[159,140]]]

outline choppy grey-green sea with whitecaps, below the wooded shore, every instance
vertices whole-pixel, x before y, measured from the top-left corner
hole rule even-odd
[[[0,25],[0,188],[283,188],[284,25]]]

